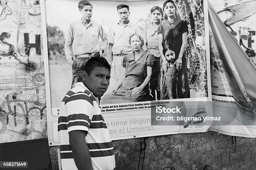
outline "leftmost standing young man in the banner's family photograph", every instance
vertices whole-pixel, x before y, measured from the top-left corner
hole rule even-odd
[[[81,81],[81,71],[85,63],[91,57],[102,57],[103,49],[108,46],[107,34],[102,26],[92,21],[92,4],[88,0],[82,0],[78,3],[78,9],[82,18],[70,24],[64,47],[67,61],[72,66],[71,87]]]

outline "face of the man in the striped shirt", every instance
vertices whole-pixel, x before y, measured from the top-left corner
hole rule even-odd
[[[85,74],[87,74],[85,72]],[[83,79],[82,82],[85,86],[95,95],[95,97],[101,97],[108,89],[110,71],[105,67],[95,67],[90,75],[87,74],[86,80]]]

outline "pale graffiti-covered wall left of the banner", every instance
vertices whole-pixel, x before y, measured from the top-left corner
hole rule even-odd
[[[0,143],[47,137],[39,0],[0,0]]]

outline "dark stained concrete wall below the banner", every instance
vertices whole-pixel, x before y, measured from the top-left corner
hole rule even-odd
[[[113,141],[117,170],[138,169],[140,143],[139,138]],[[58,170],[57,148],[50,147],[54,170]],[[175,170],[255,170],[255,153],[256,139],[216,132],[149,137],[143,170],[163,170],[167,166]]]

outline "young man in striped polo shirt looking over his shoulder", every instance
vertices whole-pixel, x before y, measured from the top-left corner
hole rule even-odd
[[[61,102],[58,137],[62,170],[113,170],[113,144],[101,115],[97,97],[108,88],[110,65],[92,57],[77,82]]]

